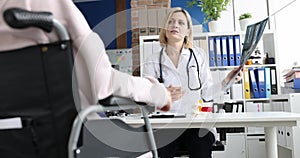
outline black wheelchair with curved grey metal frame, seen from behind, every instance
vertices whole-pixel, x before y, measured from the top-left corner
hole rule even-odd
[[[74,74],[76,71],[73,71],[71,40],[66,28],[53,18],[51,13],[11,8],[4,12],[4,19],[9,26],[18,29],[37,27],[46,32],[55,29],[60,41],[0,52],[0,73],[5,74],[1,75],[0,79],[2,83],[0,119],[19,117],[23,126],[21,129],[0,130],[2,158],[66,158],[75,156],[73,151],[76,151],[76,157],[90,157],[90,152],[93,150],[96,157],[113,153],[118,153],[119,157],[132,157],[130,155],[141,155],[147,151],[152,151],[154,157],[157,157],[152,129],[143,107],[146,124],[139,128],[130,127],[117,119],[110,121],[109,118],[104,118],[91,122],[85,119],[85,116],[91,112],[105,111],[105,106],[117,109],[119,105],[125,107],[126,104],[132,107],[132,104],[143,103],[136,103],[126,98],[108,97],[99,101],[102,106],[95,105],[82,109],[76,117],[77,110],[81,109],[76,107],[80,105],[80,101],[76,74]],[[75,77],[72,77],[72,73]],[[83,122],[85,126],[81,131]],[[132,152],[133,149],[137,149],[132,148],[129,151],[126,149],[122,151],[94,139],[90,128],[86,128],[93,124],[99,127],[99,132],[102,129],[116,132],[124,129],[135,132],[134,137],[121,133],[127,139],[119,144],[127,143],[127,145],[123,144],[126,147],[128,144],[138,143],[142,150]],[[103,134],[99,132],[96,133]],[[136,132],[142,134],[138,136]],[[83,137],[82,143],[77,147],[80,135]],[[86,138],[89,141],[85,141]],[[67,145],[68,141],[70,148]],[[70,149],[69,152],[67,149]],[[78,149],[81,149],[81,154],[77,153]]]

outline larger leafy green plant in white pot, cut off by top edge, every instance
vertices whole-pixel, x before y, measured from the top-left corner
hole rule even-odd
[[[218,32],[220,27],[217,20],[221,17],[221,12],[227,9],[230,0],[189,0],[188,7],[197,6],[206,15],[204,22],[208,22],[211,32]]]

